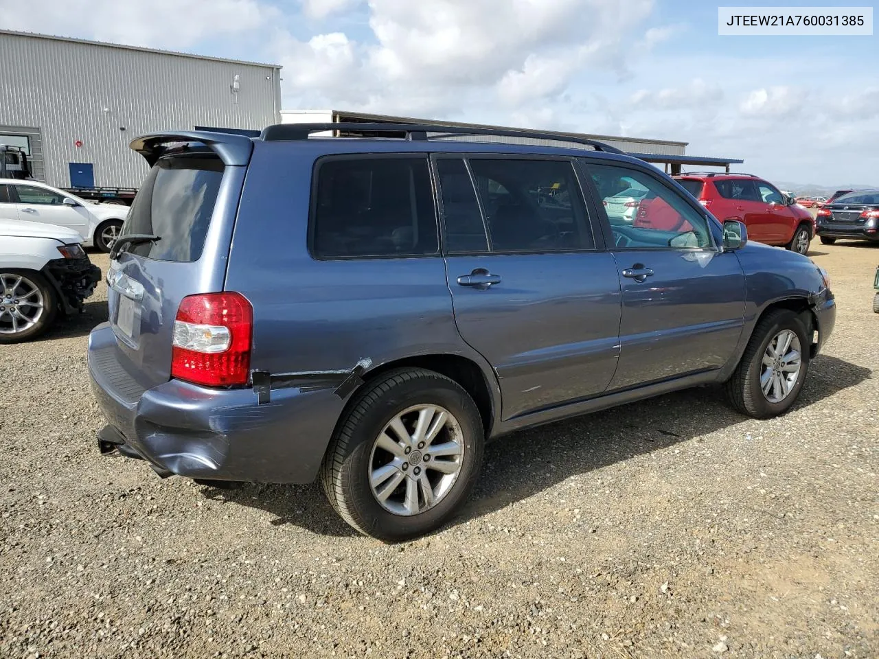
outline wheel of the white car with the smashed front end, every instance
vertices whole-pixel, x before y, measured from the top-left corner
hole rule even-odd
[[[0,269],[0,344],[18,344],[38,337],[51,327],[57,314],[55,290],[40,272]],[[16,329],[23,325],[27,326]]]

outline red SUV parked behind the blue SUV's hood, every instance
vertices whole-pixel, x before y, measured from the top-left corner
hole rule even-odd
[[[687,173],[675,177],[718,220],[745,223],[750,240],[807,254],[815,235],[809,211],[751,174]]]

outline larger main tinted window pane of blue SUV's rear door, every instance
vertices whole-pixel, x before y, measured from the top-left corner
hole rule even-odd
[[[473,159],[469,164],[492,251],[594,247],[570,162]]]

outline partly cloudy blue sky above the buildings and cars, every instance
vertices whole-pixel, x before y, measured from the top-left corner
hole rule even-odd
[[[286,110],[686,141],[769,180],[879,185],[877,37],[718,36],[718,5],[0,0],[0,28],[281,64]]]

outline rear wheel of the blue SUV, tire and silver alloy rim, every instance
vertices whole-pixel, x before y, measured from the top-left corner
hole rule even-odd
[[[352,403],[323,460],[323,492],[365,535],[416,538],[467,500],[483,444],[476,403],[454,380],[420,369],[393,371]]]

